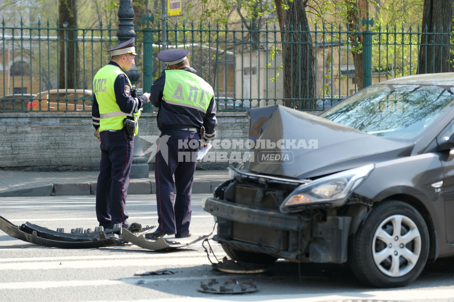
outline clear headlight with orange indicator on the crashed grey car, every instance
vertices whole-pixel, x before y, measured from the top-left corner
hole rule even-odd
[[[342,206],[350,193],[363,182],[374,169],[374,164],[321,177],[297,187],[282,202],[282,213],[301,211],[306,206],[327,204]]]

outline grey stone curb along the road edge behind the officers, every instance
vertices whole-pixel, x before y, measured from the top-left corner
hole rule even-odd
[[[224,181],[194,180],[192,194],[210,194]],[[97,182],[64,182],[0,192],[0,197],[85,196],[96,195]],[[156,182],[150,179],[131,179],[128,195],[155,194]]]

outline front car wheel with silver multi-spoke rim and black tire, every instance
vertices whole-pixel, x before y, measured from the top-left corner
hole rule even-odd
[[[353,273],[363,283],[380,288],[413,282],[429,255],[424,218],[403,201],[376,203],[349,241],[348,261]]]

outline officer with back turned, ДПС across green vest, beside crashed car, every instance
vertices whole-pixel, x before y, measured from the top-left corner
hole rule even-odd
[[[158,59],[168,67],[151,86],[150,95],[152,104],[159,108],[161,131],[154,171],[159,225],[147,237],[191,236],[191,192],[197,151],[216,136],[213,89],[189,66],[188,54],[186,49],[167,49],[158,54]]]

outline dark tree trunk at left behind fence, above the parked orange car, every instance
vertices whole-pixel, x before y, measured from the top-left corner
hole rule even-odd
[[[77,30],[68,30],[77,28],[77,0],[59,0],[59,88],[77,88],[76,71],[77,57],[79,57],[79,48],[77,42],[64,42],[65,39],[77,40]],[[64,30],[65,22],[68,24],[67,30]],[[65,33],[66,32],[66,33]],[[66,59],[65,53],[66,51]],[[66,63],[66,64],[65,64]],[[65,75],[66,81],[65,81]],[[66,86],[65,84],[68,84]]]

